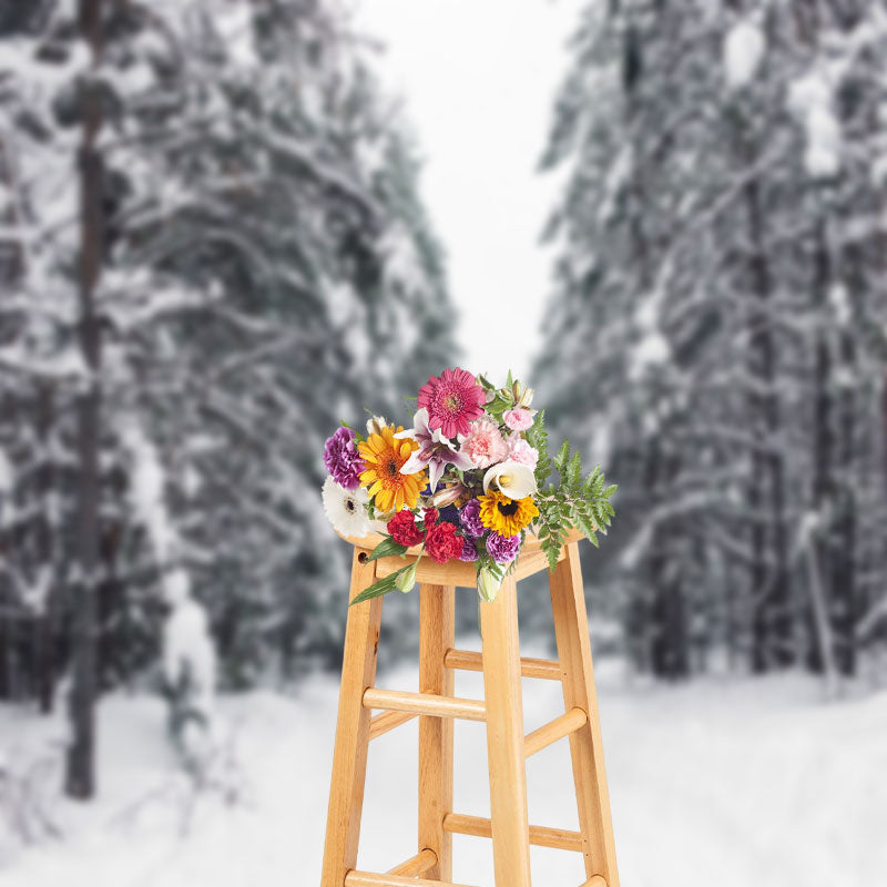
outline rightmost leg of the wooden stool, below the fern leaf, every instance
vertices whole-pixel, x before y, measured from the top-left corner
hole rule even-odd
[[[549,583],[563,677],[563,702],[568,711],[578,706],[588,714],[585,725],[570,734],[585,874],[589,878],[601,875],[606,887],[619,887],[585,593],[577,542],[567,547],[567,557],[558,563],[553,573],[549,573]]]

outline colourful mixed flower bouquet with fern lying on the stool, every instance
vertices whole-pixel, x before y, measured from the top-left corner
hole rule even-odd
[[[597,533],[605,533],[613,517],[616,488],[606,486],[599,467],[583,477],[568,441],[549,458],[544,410],[532,409],[532,398],[511,373],[497,388],[457,367],[419,389],[412,428],[379,416],[367,422],[366,435],[343,424],[324,449],[330,523],[351,538],[381,532],[370,560],[420,546],[437,563],[473,561],[486,601],[516,568],[528,532],[552,570],[570,529],[597,546]],[[374,582],[351,603],[410,591],[417,562]]]

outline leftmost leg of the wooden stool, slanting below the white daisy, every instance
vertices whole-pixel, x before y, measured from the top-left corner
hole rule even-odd
[[[349,600],[375,580],[375,561],[360,562],[360,555],[366,558],[367,553],[355,549]],[[363,696],[376,679],[380,622],[381,598],[348,610],[320,887],[343,887],[345,875],[357,865],[371,717],[370,710],[363,705]]]

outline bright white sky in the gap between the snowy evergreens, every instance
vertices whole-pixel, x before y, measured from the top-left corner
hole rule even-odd
[[[550,258],[539,245],[557,177],[536,173],[581,0],[358,0],[385,44],[426,159],[422,194],[448,254],[462,365],[527,378]]]

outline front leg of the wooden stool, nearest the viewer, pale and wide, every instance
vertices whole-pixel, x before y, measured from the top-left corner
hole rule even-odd
[[[530,887],[530,825],[523,759],[517,584],[507,577],[480,604],[490,819],[496,887]]]

